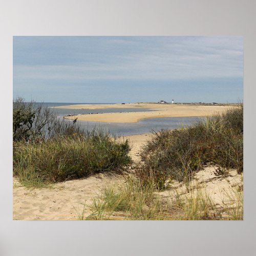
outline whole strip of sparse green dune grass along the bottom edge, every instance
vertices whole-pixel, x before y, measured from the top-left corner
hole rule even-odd
[[[184,192],[185,191],[185,192]],[[242,220],[243,193],[237,187],[224,191],[222,205],[214,203],[205,187],[189,184],[189,193],[173,189],[161,194],[141,186],[133,175],[122,184],[101,188],[91,203],[76,208],[78,220]]]

